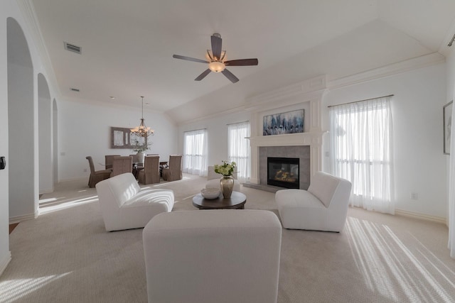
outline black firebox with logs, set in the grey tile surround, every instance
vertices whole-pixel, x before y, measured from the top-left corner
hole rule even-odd
[[[299,188],[299,158],[267,157],[267,184]]]

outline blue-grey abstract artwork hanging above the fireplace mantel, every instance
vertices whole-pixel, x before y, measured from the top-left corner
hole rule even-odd
[[[286,133],[304,132],[304,109],[287,111],[281,114],[264,116],[262,123],[262,135],[283,135]]]

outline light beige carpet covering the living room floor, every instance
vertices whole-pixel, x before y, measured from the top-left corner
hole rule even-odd
[[[150,187],[173,189],[181,211],[196,210],[204,184],[184,175]],[[278,214],[273,193],[242,192],[246,209]],[[10,235],[0,302],[147,301],[142,229],[106,232],[86,180],[58,184],[40,212]],[[341,233],[283,229],[278,302],[455,302],[447,237],[443,224],[353,208]]]

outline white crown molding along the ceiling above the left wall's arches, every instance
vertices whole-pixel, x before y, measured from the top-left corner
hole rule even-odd
[[[57,78],[55,77],[52,62],[50,61],[48,49],[45,47],[43,34],[41,33],[41,27],[38,22],[38,18],[35,13],[35,6],[31,0],[17,0],[16,1],[19,10],[22,13],[23,19],[30,33],[33,45],[35,46],[38,57],[41,60],[41,65],[45,71],[45,77],[47,81],[50,81],[50,87],[53,88],[54,94],[61,97],[60,88],[58,87]],[[49,84],[49,83],[48,83]],[[51,98],[54,99],[55,97]]]

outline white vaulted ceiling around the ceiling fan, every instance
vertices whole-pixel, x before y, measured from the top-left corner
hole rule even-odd
[[[438,52],[455,19],[454,0],[26,1],[65,99],[140,106],[145,96],[149,110],[177,122],[228,109],[213,100],[215,91],[242,100]],[[207,66],[172,55],[204,59],[213,33],[228,60],[257,57],[259,65],[229,67],[235,84],[215,73],[194,81]]]

